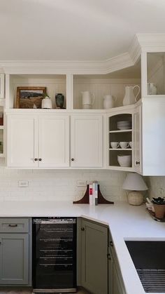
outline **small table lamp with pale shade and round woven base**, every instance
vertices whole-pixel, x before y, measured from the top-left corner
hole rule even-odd
[[[131,205],[141,205],[143,203],[143,194],[139,191],[148,190],[143,178],[138,173],[128,173],[122,189],[131,190],[128,194],[128,203]]]

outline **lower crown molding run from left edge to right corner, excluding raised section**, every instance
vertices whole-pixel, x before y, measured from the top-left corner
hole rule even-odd
[[[6,74],[108,74],[131,65],[129,53],[103,61],[0,60]]]

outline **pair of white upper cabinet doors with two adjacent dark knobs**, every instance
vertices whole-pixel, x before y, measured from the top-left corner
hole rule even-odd
[[[69,116],[7,115],[7,166],[69,166]]]

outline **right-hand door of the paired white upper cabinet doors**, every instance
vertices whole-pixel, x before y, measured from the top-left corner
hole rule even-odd
[[[39,167],[69,166],[69,116],[39,117]]]

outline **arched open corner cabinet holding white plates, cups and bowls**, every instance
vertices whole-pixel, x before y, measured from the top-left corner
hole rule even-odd
[[[134,170],[134,106],[119,107],[108,112],[108,152],[107,167],[113,170],[133,171]],[[123,144],[127,144],[123,146]],[[115,146],[116,145],[116,146]],[[118,156],[128,156],[129,163],[122,164],[118,161]]]

